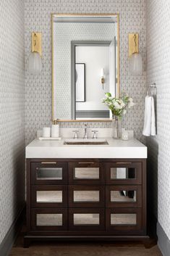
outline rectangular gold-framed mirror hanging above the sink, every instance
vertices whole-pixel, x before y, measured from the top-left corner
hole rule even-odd
[[[107,120],[101,99],[119,95],[119,15],[51,20],[53,120]]]

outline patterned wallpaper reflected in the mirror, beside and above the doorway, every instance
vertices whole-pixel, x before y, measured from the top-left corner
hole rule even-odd
[[[71,41],[111,41],[115,36],[115,27],[116,23],[54,22],[55,119],[57,117],[65,120],[72,119],[72,92],[70,83],[72,60],[70,51]]]

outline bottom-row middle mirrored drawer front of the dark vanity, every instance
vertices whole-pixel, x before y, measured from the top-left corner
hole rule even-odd
[[[69,208],[69,229],[103,230],[105,228],[104,209]]]

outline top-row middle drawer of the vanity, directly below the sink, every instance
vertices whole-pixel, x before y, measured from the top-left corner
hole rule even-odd
[[[69,162],[70,184],[103,184],[103,164],[99,162]]]

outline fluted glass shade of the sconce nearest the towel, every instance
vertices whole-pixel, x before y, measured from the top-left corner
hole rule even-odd
[[[141,75],[143,73],[143,59],[141,54],[136,52],[129,57],[129,72],[132,75]]]

